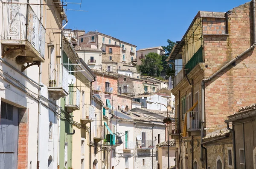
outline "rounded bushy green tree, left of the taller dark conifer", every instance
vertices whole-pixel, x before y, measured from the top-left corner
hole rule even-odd
[[[138,70],[147,76],[160,76],[163,70],[162,56],[157,53],[149,53],[145,56],[145,59],[141,59],[141,65],[138,66]]]

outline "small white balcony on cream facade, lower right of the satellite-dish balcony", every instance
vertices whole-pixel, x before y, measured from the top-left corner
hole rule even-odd
[[[87,107],[86,107],[87,106]],[[82,112],[81,112],[81,123],[87,124],[93,121],[94,118],[94,107],[91,105],[82,105]]]

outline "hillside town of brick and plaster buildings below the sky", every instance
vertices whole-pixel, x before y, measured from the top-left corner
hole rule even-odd
[[[0,1],[0,169],[256,169],[256,0],[140,49],[66,5]]]

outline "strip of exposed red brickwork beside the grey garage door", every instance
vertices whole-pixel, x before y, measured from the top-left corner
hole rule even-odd
[[[18,132],[18,169],[26,169],[28,163],[28,139],[29,139],[29,109],[19,110],[19,132]]]

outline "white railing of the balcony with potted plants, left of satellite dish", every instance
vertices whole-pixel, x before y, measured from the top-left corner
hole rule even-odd
[[[68,88],[68,71],[62,64],[49,64],[48,87],[62,88],[67,93]]]

